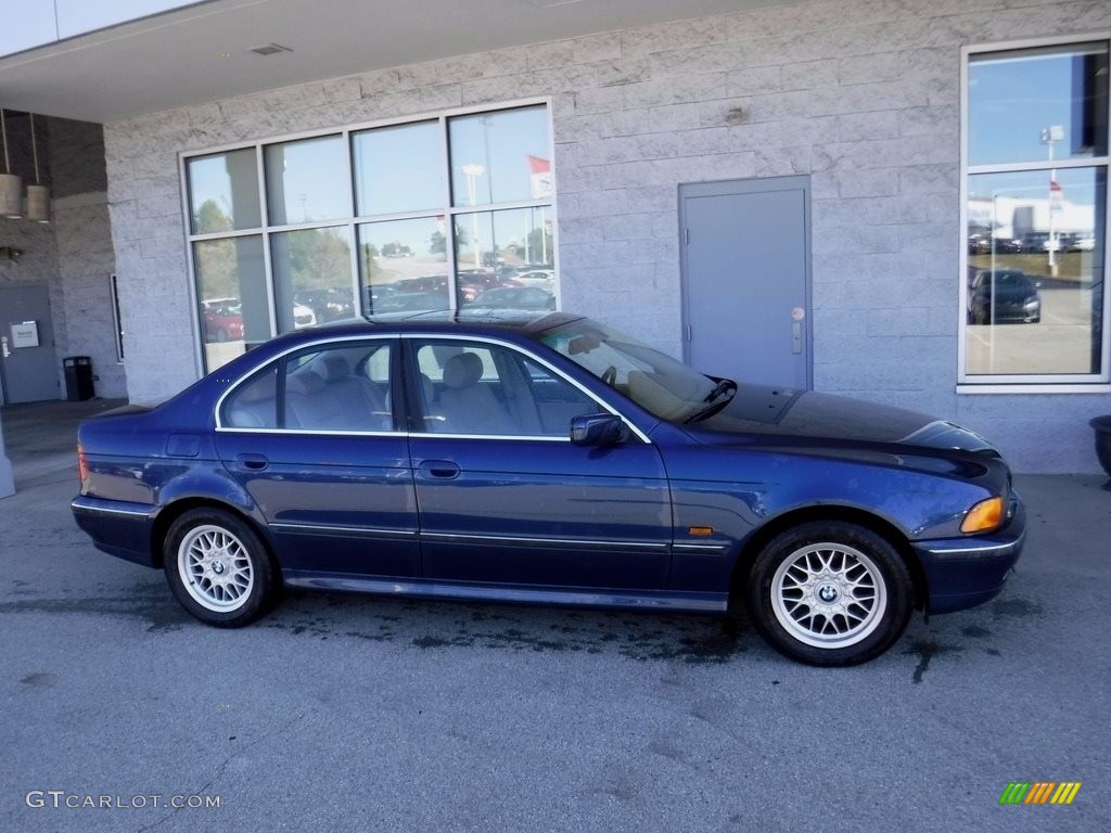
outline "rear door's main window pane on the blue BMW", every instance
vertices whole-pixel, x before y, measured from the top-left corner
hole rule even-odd
[[[284,367],[284,428],[393,430],[389,342],[316,348],[290,357]]]

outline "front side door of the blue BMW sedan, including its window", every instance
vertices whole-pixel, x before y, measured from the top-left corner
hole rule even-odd
[[[637,435],[570,442],[605,409],[496,340],[406,340],[410,451],[424,576],[532,589],[662,590],[671,503],[660,454]]]

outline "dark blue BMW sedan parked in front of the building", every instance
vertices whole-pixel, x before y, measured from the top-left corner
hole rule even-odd
[[[977,434],[705,377],[595,321],[301,330],[79,433],[72,509],[213,625],[282,586],[724,612],[874,658],[998,594],[1022,504]]]

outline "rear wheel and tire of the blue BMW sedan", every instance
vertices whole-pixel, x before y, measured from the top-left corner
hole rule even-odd
[[[250,624],[278,595],[278,573],[266,544],[250,525],[222,509],[182,514],[167,532],[162,555],[173,595],[207,624]]]

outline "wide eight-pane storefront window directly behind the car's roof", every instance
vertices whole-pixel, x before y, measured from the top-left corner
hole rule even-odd
[[[206,370],[359,314],[554,309],[550,147],[536,104],[188,158]]]

